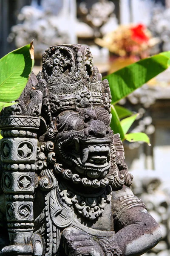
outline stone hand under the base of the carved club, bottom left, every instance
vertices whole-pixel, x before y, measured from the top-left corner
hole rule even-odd
[[[33,255],[33,256],[42,256],[42,241],[38,234],[33,234],[31,239],[31,244],[25,245],[8,245],[3,247],[0,251],[0,256],[8,256],[8,255]]]

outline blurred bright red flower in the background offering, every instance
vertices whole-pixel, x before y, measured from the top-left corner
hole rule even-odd
[[[132,40],[138,44],[147,43],[149,41],[149,37],[144,32],[145,28],[146,27],[143,24],[138,24],[130,28]]]

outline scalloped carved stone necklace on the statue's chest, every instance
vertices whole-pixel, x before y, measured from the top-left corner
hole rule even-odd
[[[80,215],[88,220],[95,220],[101,217],[105,205],[111,202],[112,189],[111,186],[107,186],[102,189],[102,192],[89,197],[88,195],[72,192],[60,183],[59,195],[65,204],[69,207],[73,206]]]

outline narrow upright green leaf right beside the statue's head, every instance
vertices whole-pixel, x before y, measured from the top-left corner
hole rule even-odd
[[[121,140],[124,140],[125,135],[123,133],[123,130],[122,130],[122,127],[121,127],[121,124],[120,124],[120,119],[119,119],[119,116],[117,115],[117,112],[116,112],[113,105],[111,105],[111,114],[112,114],[112,119],[111,119],[111,125],[110,126],[111,126],[113,132],[114,132],[114,134],[119,133]]]

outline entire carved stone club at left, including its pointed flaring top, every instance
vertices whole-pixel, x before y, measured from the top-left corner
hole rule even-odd
[[[27,90],[30,85],[28,84]],[[11,245],[24,245],[24,254],[29,255],[32,253],[30,244],[34,227],[36,131],[40,125],[39,109],[42,98],[42,94],[38,91],[32,91],[30,94],[29,101],[26,97],[24,102],[21,96],[19,103],[5,109],[0,117],[3,136],[0,140],[1,186],[6,194],[9,240]],[[15,251],[14,248],[7,246],[4,248],[4,253],[12,253]]]

